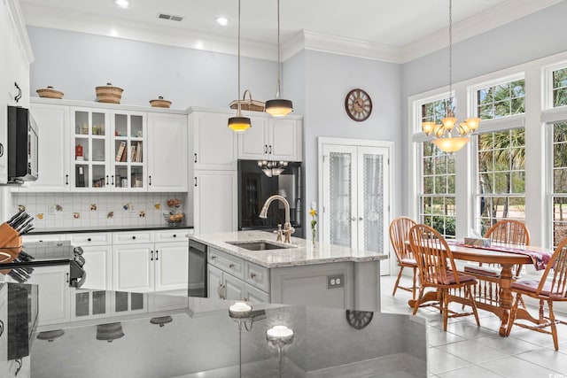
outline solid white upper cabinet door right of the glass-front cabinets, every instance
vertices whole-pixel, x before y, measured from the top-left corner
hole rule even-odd
[[[148,190],[187,191],[187,116],[148,113]]]

